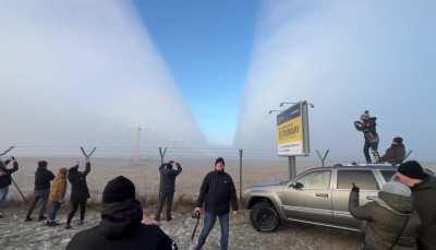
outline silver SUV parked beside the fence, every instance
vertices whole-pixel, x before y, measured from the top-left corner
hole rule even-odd
[[[395,175],[391,165],[335,165],[312,168],[291,181],[266,183],[244,191],[245,209],[259,231],[274,231],[280,222],[308,223],[360,230],[361,223],[348,210],[352,183],[360,187],[360,203],[377,197]]]

